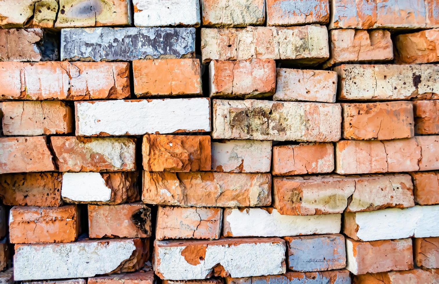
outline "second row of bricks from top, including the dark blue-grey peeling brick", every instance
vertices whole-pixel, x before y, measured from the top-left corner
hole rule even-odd
[[[396,35],[396,63],[438,61],[438,32],[435,28]],[[4,29],[0,30],[0,36],[5,39],[4,45],[0,45],[0,60],[58,58],[58,46],[50,50],[40,44],[44,42],[44,32],[40,28]],[[60,40],[61,60],[130,61],[195,56],[195,28],[64,28]],[[343,62],[391,61],[394,58],[387,30],[331,30],[329,42],[327,28],[322,25],[201,29],[203,63],[260,58],[294,60],[306,65],[326,61],[324,66],[329,67]],[[42,57],[42,51],[49,54]]]

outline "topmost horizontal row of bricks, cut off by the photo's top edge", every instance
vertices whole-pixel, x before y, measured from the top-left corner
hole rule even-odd
[[[133,7],[130,0],[119,0],[90,2],[86,11],[82,11],[82,2],[34,2],[0,1],[0,27],[124,26],[132,25],[133,20],[138,27],[196,27],[201,22],[200,6],[203,26],[239,27],[266,22],[270,26],[329,23],[331,28],[439,27],[435,13],[439,6],[430,0],[378,0],[365,4],[355,0],[301,0],[294,4],[288,0],[133,0]]]

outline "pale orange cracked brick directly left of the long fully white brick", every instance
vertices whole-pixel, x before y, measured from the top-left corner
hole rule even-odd
[[[72,108],[61,101],[3,102],[4,135],[43,135],[72,132]]]

